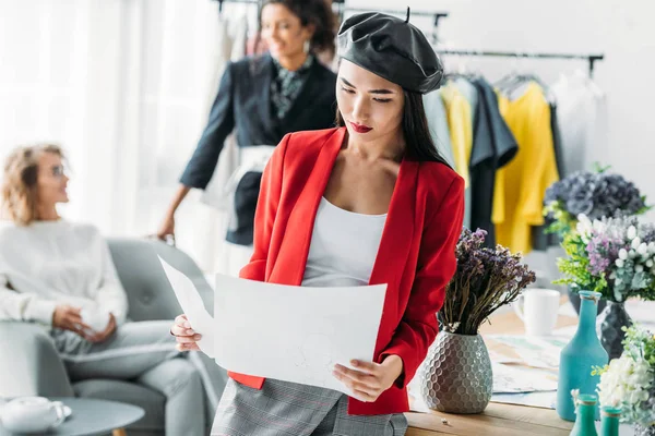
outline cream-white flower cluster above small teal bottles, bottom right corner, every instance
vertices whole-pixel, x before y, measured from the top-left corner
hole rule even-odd
[[[623,330],[623,354],[592,373],[600,375],[598,400],[621,409],[622,421],[648,427],[655,425],[655,335],[635,326]]]

